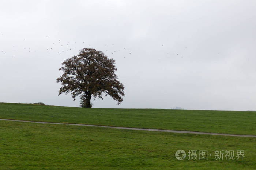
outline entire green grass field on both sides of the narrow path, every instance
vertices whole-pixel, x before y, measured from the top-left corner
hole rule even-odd
[[[0,118],[256,134],[256,112],[104,109],[0,103]],[[0,169],[256,169],[256,138],[0,121]],[[179,161],[177,150],[207,150]],[[244,150],[243,160],[214,160]],[[211,154],[211,156],[210,156]],[[197,154],[198,155],[198,154]],[[198,157],[198,156],[197,156]]]

